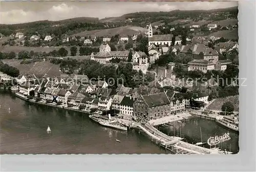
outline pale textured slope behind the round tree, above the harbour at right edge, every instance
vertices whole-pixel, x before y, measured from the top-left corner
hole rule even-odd
[[[221,107],[222,107],[223,103],[225,103],[225,102],[231,102],[234,106],[234,111],[236,111],[236,112],[239,111],[239,95],[216,99],[206,109],[221,111]]]

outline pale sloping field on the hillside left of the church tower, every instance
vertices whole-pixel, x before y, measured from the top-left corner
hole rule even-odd
[[[116,34],[128,35],[132,36],[138,34],[138,32],[145,32],[147,29],[141,27],[119,27],[119,28],[112,28],[112,29],[101,29],[101,30],[93,30],[93,31],[84,31],[72,36],[88,36],[88,35],[96,35],[96,36],[115,36]]]

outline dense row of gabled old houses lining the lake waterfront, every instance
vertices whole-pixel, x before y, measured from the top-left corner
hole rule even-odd
[[[118,110],[120,114],[133,117],[156,118],[183,112],[190,99],[208,103],[204,93],[179,93],[152,86],[138,88],[119,84],[110,89],[105,81],[90,81],[85,75],[61,75],[38,79],[35,75],[22,75],[17,78],[19,93],[32,96],[42,102],[57,103],[77,107],[81,110]],[[55,101],[55,102],[54,102]]]

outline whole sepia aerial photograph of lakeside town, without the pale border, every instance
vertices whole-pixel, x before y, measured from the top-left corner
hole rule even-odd
[[[0,154],[238,154],[238,2],[1,2]]]

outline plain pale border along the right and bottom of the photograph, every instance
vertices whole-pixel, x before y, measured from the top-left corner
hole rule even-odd
[[[238,155],[2,155],[1,171],[256,171],[255,1],[239,2],[240,152]]]

